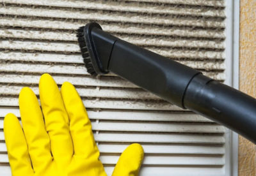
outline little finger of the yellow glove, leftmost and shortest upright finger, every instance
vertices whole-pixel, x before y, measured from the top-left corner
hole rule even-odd
[[[4,138],[12,175],[32,175],[33,169],[29,158],[26,138],[19,120],[13,114],[7,114],[4,117]]]

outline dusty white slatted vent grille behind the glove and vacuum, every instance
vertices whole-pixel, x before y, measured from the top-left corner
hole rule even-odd
[[[42,73],[74,84],[92,121],[106,172],[139,142],[141,175],[226,175],[227,129],[135,85],[86,72],[76,29],[96,21],[105,31],[205,75],[225,80],[225,1],[0,1],[0,175],[11,175],[3,118],[20,117],[24,86],[38,95]]]

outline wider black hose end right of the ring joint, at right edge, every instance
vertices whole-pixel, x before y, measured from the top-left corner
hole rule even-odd
[[[256,99],[200,74],[185,92],[184,106],[256,143]]]

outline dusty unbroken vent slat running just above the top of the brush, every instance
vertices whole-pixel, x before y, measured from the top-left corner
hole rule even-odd
[[[72,12],[72,13],[71,13]],[[47,18],[72,18],[77,20],[102,20],[105,22],[129,22],[136,24],[157,24],[165,26],[195,26],[195,27],[218,27],[224,28],[225,25],[217,20],[204,20],[202,19],[180,19],[170,17],[148,17],[143,14],[132,13],[100,13],[99,11],[69,11],[48,8],[29,8],[29,7],[13,7],[13,6],[0,6],[0,14],[6,15],[22,15],[28,17],[47,17]]]

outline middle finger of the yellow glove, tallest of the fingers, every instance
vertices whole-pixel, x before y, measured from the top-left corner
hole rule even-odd
[[[39,82],[40,101],[45,128],[51,140],[51,152],[60,168],[67,166],[73,155],[68,115],[60,91],[51,75],[44,74]]]

